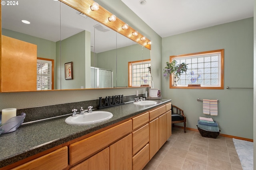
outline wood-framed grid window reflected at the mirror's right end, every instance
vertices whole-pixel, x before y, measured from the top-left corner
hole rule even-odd
[[[149,66],[151,66],[150,59],[128,62],[128,86],[150,86]]]

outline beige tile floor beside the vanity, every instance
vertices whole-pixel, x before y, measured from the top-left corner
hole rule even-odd
[[[173,127],[172,136],[143,170],[242,170],[242,166],[232,138],[206,138]]]

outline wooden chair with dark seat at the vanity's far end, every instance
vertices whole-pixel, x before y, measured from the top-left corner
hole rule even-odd
[[[172,105],[172,124],[174,123],[184,123],[184,133],[186,133],[186,116],[182,109]]]

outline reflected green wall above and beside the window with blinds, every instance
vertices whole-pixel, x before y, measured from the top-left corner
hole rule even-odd
[[[19,33],[16,31],[11,31],[9,29],[2,28],[2,35],[19,39],[28,43],[37,45],[37,57],[52,59],[56,61],[56,43],[54,41],[49,41],[46,39],[34,37],[24,33]],[[54,63],[54,70],[56,70],[56,62]],[[54,77],[56,77],[56,71],[54,72]],[[54,89],[56,89],[56,80],[54,79]]]

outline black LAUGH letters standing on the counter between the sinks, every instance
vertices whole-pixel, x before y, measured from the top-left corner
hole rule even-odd
[[[110,106],[116,106],[123,103],[123,96],[124,95],[118,95],[118,96],[106,96],[105,100],[102,100],[102,97],[100,97],[100,104],[99,109],[103,107],[110,107]]]

